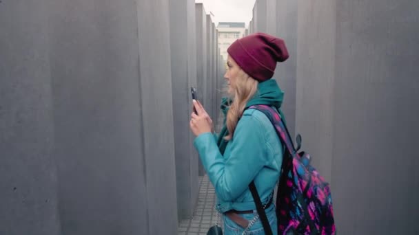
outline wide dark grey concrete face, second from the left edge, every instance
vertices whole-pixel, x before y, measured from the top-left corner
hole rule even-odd
[[[142,99],[147,94],[139,92],[136,5],[132,1],[101,5],[90,0],[54,1],[49,9],[61,232],[141,234],[154,230],[156,225],[147,224],[144,208],[165,208],[147,201],[162,192],[146,190],[145,182],[160,183],[152,172],[161,167],[152,170],[150,161],[164,161],[152,156],[145,139],[159,143],[161,137],[152,136],[141,125],[144,121],[147,126],[148,120],[150,126],[150,117],[140,110],[146,113],[152,104]],[[167,152],[172,153],[168,146]],[[167,165],[170,162],[163,168]],[[174,166],[161,171],[170,175]],[[170,192],[166,195],[175,194],[172,187],[170,183],[164,189]],[[150,216],[155,213],[148,211]],[[172,218],[176,215],[167,217],[167,230],[175,231],[177,221]]]

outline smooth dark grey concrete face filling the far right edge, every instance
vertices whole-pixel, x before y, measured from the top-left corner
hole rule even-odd
[[[418,234],[419,2],[337,1],[336,12],[338,225],[349,234]]]

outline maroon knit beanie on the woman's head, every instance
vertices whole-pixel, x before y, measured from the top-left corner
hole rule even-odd
[[[276,62],[289,57],[283,39],[263,33],[239,38],[227,52],[246,74],[260,82],[272,78]]]

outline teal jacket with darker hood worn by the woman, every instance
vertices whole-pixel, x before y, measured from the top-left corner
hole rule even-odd
[[[258,92],[247,107],[271,104],[279,109],[282,98],[283,92],[275,80],[268,80],[258,85]],[[247,109],[238,121],[233,139],[222,150],[223,155],[217,145],[220,138],[222,136],[203,133],[194,140],[203,167],[214,185],[217,209],[220,212],[256,209],[249,190],[252,180],[262,203],[267,203],[273,196],[283,159],[283,147],[272,123],[262,112]]]

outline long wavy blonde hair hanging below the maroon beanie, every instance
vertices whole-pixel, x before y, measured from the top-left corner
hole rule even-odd
[[[243,115],[247,102],[254,96],[257,90],[258,81],[240,69],[236,78],[234,94],[231,94],[233,102],[229,107],[226,121],[229,134],[224,137],[225,140],[233,138],[238,120]]]

